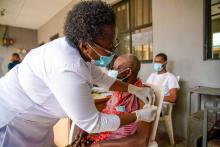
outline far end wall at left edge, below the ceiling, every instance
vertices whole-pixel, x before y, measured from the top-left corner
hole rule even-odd
[[[3,37],[5,27],[0,26],[0,37]],[[0,77],[8,71],[8,63],[10,56],[14,52],[18,52],[18,48],[30,50],[37,46],[37,31],[31,29],[23,29],[17,27],[8,28],[9,37],[15,40],[13,46],[4,47],[0,45]]]

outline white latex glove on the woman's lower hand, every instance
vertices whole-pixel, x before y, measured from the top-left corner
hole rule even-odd
[[[145,106],[143,109],[134,111],[137,121],[152,122],[157,114],[157,106]]]

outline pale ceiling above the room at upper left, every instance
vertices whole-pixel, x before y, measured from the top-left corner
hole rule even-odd
[[[0,0],[0,24],[38,29],[68,4],[80,0]],[[118,0],[104,0],[115,3]]]

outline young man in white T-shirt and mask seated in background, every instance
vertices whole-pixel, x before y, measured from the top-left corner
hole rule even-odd
[[[154,70],[147,79],[146,84],[161,85],[164,88],[164,101],[175,103],[177,89],[179,89],[179,83],[177,78],[166,69],[167,55],[159,53],[154,58]],[[166,111],[166,106],[163,105],[162,112]]]

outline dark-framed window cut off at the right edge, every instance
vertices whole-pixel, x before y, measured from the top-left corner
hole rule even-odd
[[[204,0],[204,60],[220,59],[220,0]]]

